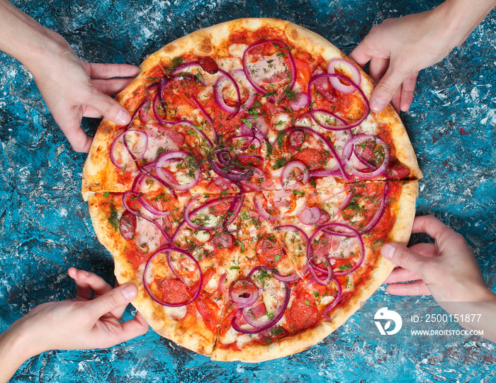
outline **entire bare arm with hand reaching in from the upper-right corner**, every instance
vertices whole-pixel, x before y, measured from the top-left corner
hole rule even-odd
[[[351,52],[377,87],[371,109],[379,113],[391,101],[396,110],[407,111],[419,70],[446,57],[496,6],[496,0],[446,0],[435,9],[400,18],[388,18],[374,26]]]

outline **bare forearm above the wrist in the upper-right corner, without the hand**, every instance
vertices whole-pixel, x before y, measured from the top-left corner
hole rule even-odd
[[[434,13],[452,37],[451,49],[463,43],[495,6],[496,0],[446,0],[437,6]]]

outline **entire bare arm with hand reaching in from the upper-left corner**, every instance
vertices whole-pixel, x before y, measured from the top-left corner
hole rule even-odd
[[[140,70],[133,65],[95,64],[79,60],[67,42],[0,0],[0,50],[16,57],[33,74],[38,89],[72,148],[88,152],[92,138],[81,129],[81,118],[102,116],[120,125],[128,111],[111,98]]]

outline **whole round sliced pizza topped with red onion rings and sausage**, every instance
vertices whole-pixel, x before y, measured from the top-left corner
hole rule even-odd
[[[260,362],[332,333],[407,243],[415,152],[372,80],[320,35],[244,18],[147,57],[103,119],[82,194],[120,284],[154,331]]]

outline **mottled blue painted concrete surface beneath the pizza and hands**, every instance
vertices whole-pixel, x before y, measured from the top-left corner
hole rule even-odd
[[[139,64],[193,30],[239,17],[277,17],[349,53],[375,23],[436,1],[79,0],[13,1],[60,33],[86,61]],[[419,76],[402,114],[424,179],[418,214],[465,235],[496,289],[496,13],[461,47]],[[85,155],[72,151],[30,74],[0,53],[0,330],[34,306],[72,297],[67,268],[113,282],[79,194]],[[94,133],[98,121],[86,120]],[[425,238],[415,236],[413,242]],[[381,289],[374,300],[385,296]],[[429,299],[419,299],[419,304]],[[128,311],[126,316],[130,316]],[[310,350],[259,364],[212,362],[153,331],[109,350],[51,351],[12,382],[496,382],[496,345],[368,343],[355,315]]]

